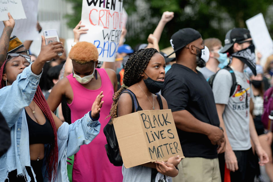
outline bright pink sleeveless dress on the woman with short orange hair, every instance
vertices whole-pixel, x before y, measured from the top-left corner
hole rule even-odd
[[[73,78],[73,73],[67,76],[73,90],[73,101],[71,104],[67,104],[71,110],[72,123],[91,111],[92,104],[101,91],[103,91],[104,95],[102,99],[104,103],[99,118],[100,133],[90,144],[82,145],[79,152],[74,155],[73,182],[121,182],[123,179],[122,167],[116,167],[109,162],[104,147],[107,142],[103,134],[103,128],[110,120],[110,117],[106,118],[106,116],[109,115],[113,103],[114,88],[105,69],[97,69],[97,71],[101,78],[101,87],[97,90],[89,90],[83,87]]]

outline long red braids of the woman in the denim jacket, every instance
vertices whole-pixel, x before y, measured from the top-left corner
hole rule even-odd
[[[10,58],[11,59],[11,58]],[[1,76],[1,82],[0,82],[0,89],[6,86],[6,81],[3,79],[3,74],[5,73],[6,64],[10,60],[6,60],[4,64],[0,68],[0,76]],[[57,174],[57,163],[58,163],[58,143],[57,143],[57,128],[52,116],[52,113],[49,109],[49,106],[46,102],[46,99],[42,93],[42,90],[38,86],[36,89],[36,93],[34,95],[33,101],[39,106],[39,108],[42,110],[42,112],[46,115],[46,117],[50,120],[50,124],[54,131],[54,142],[50,144],[50,153],[46,161],[46,169],[48,171],[48,179],[51,181],[53,177],[53,181],[56,178]],[[53,171],[53,176],[52,176]]]

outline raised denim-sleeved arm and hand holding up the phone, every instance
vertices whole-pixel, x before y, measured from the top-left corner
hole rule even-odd
[[[61,42],[45,44],[42,37],[41,52],[35,62],[25,68],[10,86],[0,89],[0,111],[5,117],[9,127],[13,126],[20,115],[21,109],[28,106],[36,92],[42,68],[46,61],[57,58],[58,52],[63,52]],[[1,78],[2,79],[2,78]],[[8,106],[8,107],[7,107]]]

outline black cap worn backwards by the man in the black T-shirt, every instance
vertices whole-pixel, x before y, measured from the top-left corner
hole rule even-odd
[[[171,46],[175,50],[173,53],[182,49],[187,44],[193,42],[194,40],[197,40],[200,37],[201,34],[193,28],[183,28],[178,30],[171,36],[170,40]],[[173,53],[171,53],[170,55],[172,55]],[[169,57],[170,55],[168,55],[167,57]]]

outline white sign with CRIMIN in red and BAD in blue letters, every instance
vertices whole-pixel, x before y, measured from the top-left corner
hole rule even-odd
[[[83,0],[81,24],[89,28],[80,41],[98,48],[98,60],[114,62],[122,30],[123,0]]]

